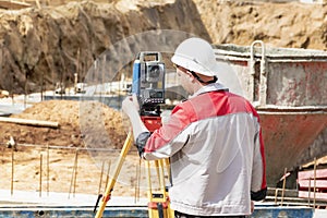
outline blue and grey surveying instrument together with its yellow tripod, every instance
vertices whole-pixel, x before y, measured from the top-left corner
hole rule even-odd
[[[140,105],[140,116],[145,126],[153,133],[161,126],[161,110],[159,104],[165,102],[165,63],[160,52],[143,51],[137,53],[133,63],[133,84],[132,93],[137,96]],[[96,207],[100,202],[99,210],[96,218],[100,218],[106,208],[107,202],[110,199],[117,178],[121,167],[133,143],[133,135],[130,132],[120,154],[119,162],[114,169],[113,177],[109,180],[105,195],[99,195]],[[173,218],[174,213],[170,208],[168,189],[165,183],[165,168],[170,180],[169,159],[144,160],[147,171],[147,197],[148,197],[148,216],[149,218]],[[152,187],[150,167],[155,166],[159,189],[156,191]]]

